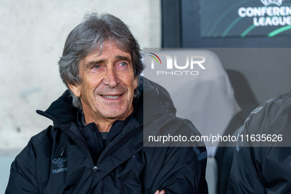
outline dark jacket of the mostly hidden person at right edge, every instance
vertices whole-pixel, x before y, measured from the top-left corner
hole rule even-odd
[[[275,147],[281,142],[274,134],[282,134],[283,140],[291,145],[291,91],[256,108],[246,119],[242,134],[271,134],[272,140],[252,142],[249,139],[237,147],[226,193],[290,194],[291,148]]]

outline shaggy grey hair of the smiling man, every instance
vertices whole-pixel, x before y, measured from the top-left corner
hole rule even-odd
[[[85,15],[81,24],[76,26],[67,36],[63,56],[59,61],[59,71],[66,87],[68,84],[80,84],[79,64],[88,55],[94,52],[102,53],[105,41],[115,42],[119,49],[129,52],[132,59],[134,76],[139,76],[144,65],[142,52],[137,40],[131,34],[129,27],[119,18],[111,14],[91,13]],[[82,110],[80,97],[73,97],[73,106]],[[134,97],[139,92],[134,90]]]

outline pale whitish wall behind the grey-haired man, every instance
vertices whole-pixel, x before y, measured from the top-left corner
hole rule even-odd
[[[141,48],[161,46],[159,0],[0,0],[0,150],[20,150],[52,125],[35,113],[63,94],[57,62],[67,34],[92,11],[131,27]]]

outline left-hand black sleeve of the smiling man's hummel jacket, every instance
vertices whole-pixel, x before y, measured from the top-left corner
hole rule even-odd
[[[37,187],[35,158],[31,139],[11,164],[5,194],[40,194]]]

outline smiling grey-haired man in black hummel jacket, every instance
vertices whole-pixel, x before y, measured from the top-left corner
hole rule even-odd
[[[54,126],[16,157],[6,194],[207,193],[204,147],[143,147],[143,130],[156,124],[199,132],[140,76],[141,50],[121,20],[87,15],[69,33],[59,69],[68,90],[37,111]],[[143,97],[154,106],[146,113]]]

